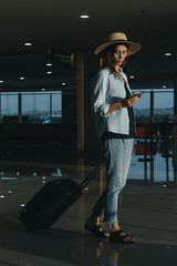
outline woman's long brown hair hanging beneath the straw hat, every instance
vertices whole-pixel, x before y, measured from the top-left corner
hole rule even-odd
[[[115,73],[115,63],[114,63],[114,53],[117,45],[125,45],[128,49],[128,45],[125,43],[115,43],[106,48],[102,54],[100,54],[100,58],[102,59],[102,65],[100,66],[100,70],[108,68],[112,73]],[[126,60],[122,63],[121,68],[125,68]]]

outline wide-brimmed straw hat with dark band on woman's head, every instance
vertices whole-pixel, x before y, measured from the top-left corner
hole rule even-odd
[[[114,43],[125,43],[128,44],[128,51],[127,51],[127,57],[132,55],[133,53],[137,52],[140,50],[140,44],[136,43],[136,42],[131,42],[127,41],[127,38],[125,35],[125,33],[123,32],[114,32],[111,33],[107,38],[107,42],[101,44],[98,48],[96,48],[95,50],[95,54],[98,54],[101,52],[103,52],[106,48],[108,48],[110,45],[114,44]]]

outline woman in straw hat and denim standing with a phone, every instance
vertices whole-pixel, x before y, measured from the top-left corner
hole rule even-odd
[[[140,96],[132,94],[122,68],[126,57],[139,49],[138,43],[127,41],[122,32],[110,34],[108,41],[95,50],[103,64],[91,86],[96,133],[103,146],[107,176],[106,187],[84,227],[97,236],[122,243],[135,242],[121,229],[117,206],[132,158],[135,136],[133,105]],[[110,234],[103,231],[102,219],[111,225]]]

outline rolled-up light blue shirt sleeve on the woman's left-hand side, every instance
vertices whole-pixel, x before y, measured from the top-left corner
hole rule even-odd
[[[108,72],[100,71],[91,85],[93,112],[98,116],[107,116],[110,103],[106,103],[106,93],[108,89]]]

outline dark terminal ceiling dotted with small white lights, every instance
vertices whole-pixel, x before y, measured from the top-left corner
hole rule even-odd
[[[88,14],[88,19],[81,19]],[[97,69],[94,49],[114,31],[142,50],[128,58],[133,88],[173,88],[177,75],[176,0],[0,0],[0,81],[3,91],[75,85],[75,66],[46,54],[84,52],[86,76]],[[25,47],[24,42],[31,42]],[[166,57],[165,53],[171,53]],[[52,70],[52,74],[46,74]],[[20,80],[24,76],[24,80]]]

